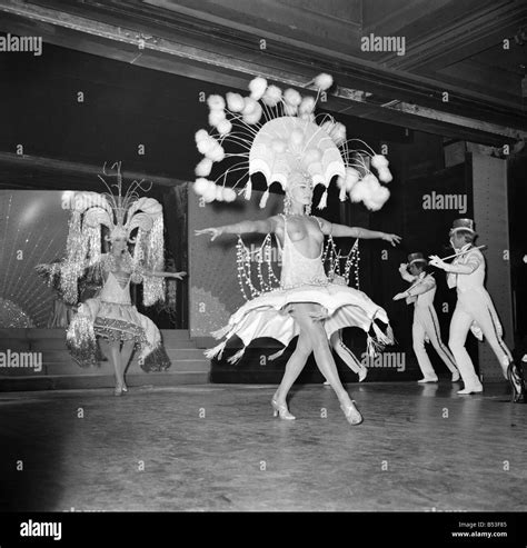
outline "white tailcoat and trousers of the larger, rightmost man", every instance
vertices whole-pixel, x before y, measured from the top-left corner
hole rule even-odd
[[[463,253],[471,247],[471,243],[467,243],[458,253]],[[469,267],[470,273],[448,272],[447,275],[448,287],[457,288],[457,305],[450,322],[448,346],[456,359],[465,382],[465,389],[479,392],[483,390],[483,386],[465,349],[468,330],[471,329],[479,340],[483,340],[484,336],[486,337],[504,371],[513,361],[513,356],[501,338],[501,323],[493,300],[484,286],[485,258],[481,251],[470,249],[467,253],[457,257],[451,265],[465,265]]]

